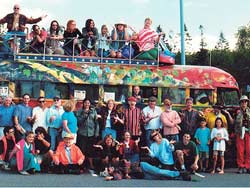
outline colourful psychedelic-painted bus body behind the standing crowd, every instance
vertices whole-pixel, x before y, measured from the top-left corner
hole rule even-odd
[[[39,96],[52,101],[59,95],[62,99],[87,97],[95,103],[113,98],[124,103],[133,86],[140,86],[145,104],[156,88],[158,105],[168,97],[174,108],[181,108],[185,98],[192,97],[198,109],[216,102],[228,108],[238,106],[235,78],[216,67],[30,53],[17,53],[0,62],[0,95],[11,95],[16,101],[29,93],[34,101]]]

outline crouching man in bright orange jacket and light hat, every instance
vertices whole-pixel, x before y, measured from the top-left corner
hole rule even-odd
[[[66,133],[59,143],[56,153],[52,154],[55,170],[59,173],[80,174],[85,156],[80,148],[73,144],[74,136]],[[51,153],[53,153],[51,151]]]

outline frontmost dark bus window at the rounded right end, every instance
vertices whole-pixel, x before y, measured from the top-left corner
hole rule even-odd
[[[224,105],[239,105],[239,98],[237,90],[218,88],[217,89],[217,102]]]

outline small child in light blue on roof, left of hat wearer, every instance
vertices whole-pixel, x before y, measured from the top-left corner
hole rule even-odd
[[[102,25],[101,33],[98,37],[98,56],[107,57],[110,55],[111,37],[106,25]]]

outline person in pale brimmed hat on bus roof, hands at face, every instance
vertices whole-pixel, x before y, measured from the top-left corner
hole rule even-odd
[[[125,24],[123,21],[116,23],[111,33],[111,39],[112,39],[111,43],[112,49],[110,52],[110,56],[121,58],[125,42],[129,40],[127,24]]]

